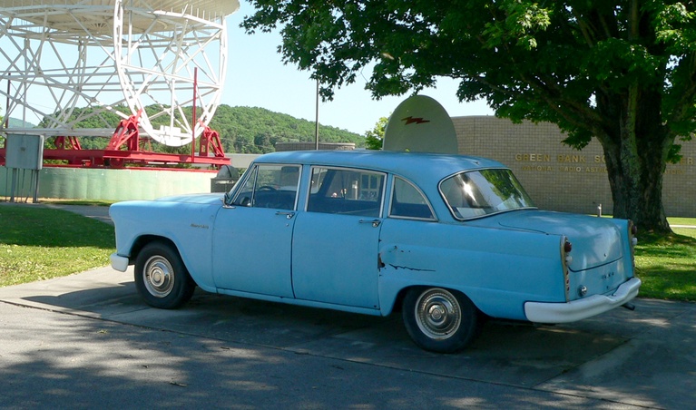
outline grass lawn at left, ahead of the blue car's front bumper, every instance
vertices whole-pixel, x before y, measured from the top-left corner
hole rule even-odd
[[[113,226],[66,210],[0,206],[0,287],[109,264]]]

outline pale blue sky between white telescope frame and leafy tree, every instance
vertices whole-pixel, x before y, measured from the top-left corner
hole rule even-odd
[[[280,34],[244,33],[240,23],[245,15],[252,13],[253,7],[241,1],[240,10],[227,19],[229,70],[221,103],[266,108],[314,122],[317,83],[309,79],[309,72],[280,61],[277,52]],[[358,76],[356,83],[338,89],[333,101],[319,102],[319,123],[364,134],[407,98],[405,95],[373,100],[365,90],[368,77],[369,73],[364,78]],[[458,102],[456,86],[455,81],[442,78],[436,88],[421,94],[442,104],[451,117],[493,115],[485,101]]]

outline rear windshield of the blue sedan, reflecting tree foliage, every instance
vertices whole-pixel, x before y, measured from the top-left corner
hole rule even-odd
[[[440,192],[458,220],[534,208],[534,203],[510,170],[458,173],[440,182]]]

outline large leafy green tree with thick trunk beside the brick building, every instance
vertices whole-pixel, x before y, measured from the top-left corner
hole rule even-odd
[[[251,0],[248,33],[280,26],[285,63],[322,95],[374,64],[376,98],[460,80],[515,122],[603,146],[613,215],[670,231],[662,174],[696,130],[696,5],[674,0]]]

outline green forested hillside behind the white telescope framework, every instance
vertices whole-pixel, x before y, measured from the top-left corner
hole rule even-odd
[[[127,112],[125,107],[121,111]],[[83,110],[77,109],[75,114],[83,114]],[[191,108],[184,110],[191,116]],[[112,123],[113,128],[119,122],[119,117],[113,113],[103,114],[102,117]],[[152,125],[158,128],[159,122]],[[40,124],[39,127],[42,125]],[[93,117],[91,122],[79,122],[79,128],[103,128],[103,123]],[[237,153],[266,153],[275,151],[277,142],[314,142],[315,124],[307,120],[300,120],[288,114],[270,112],[257,107],[230,107],[221,105],[215,112],[210,123],[213,130],[220,132],[221,142],[225,152]],[[98,149],[106,147],[108,139],[99,137],[81,137],[80,144],[83,149]],[[354,142],[357,147],[365,146],[365,138],[354,132],[340,130],[319,124],[319,142]],[[51,143],[50,141],[47,143]],[[190,151],[190,148],[163,147],[153,144],[154,151]],[[184,151],[184,152],[185,152]]]

